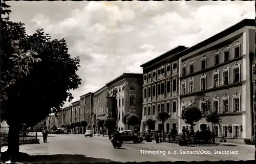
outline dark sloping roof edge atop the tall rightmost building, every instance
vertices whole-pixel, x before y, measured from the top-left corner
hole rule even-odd
[[[200,49],[203,46],[206,46],[206,45],[208,45],[212,42],[215,42],[215,41],[217,41],[217,40],[219,40],[219,39],[221,39],[221,38],[223,38],[223,37],[225,37],[225,36],[227,36],[227,35],[229,35],[233,32],[236,32],[236,31],[238,31],[239,29],[241,29],[245,26],[253,26],[254,27],[255,26],[255,20],[254,19],[243,19],[240,22],[238,22],[237,24],[227,28],[226,30],[224,30],[224,31],[222,31],[222,32],[220,32],[220,33],[218,33],[218,34],[200,42],[200,43],[197,43],[196,45],[191,46],[190,48],[178,53],[177,55],[178,56],[183,56],[183,55],[186,55],[186,54],[191,53],[193,51],[196,51],[197,49]]]

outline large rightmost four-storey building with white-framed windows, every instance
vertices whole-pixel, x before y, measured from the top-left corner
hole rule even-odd
[[[195,101],[203,113],[209,103],[208,110],[221,116],[213,129],[217,142],[244,143],[253,134],[254,34],[254,20],[244,19],[178,54],[179,113]],[[179,119],[179,132],[186,126]],[[205,118],[194,126],[195,131],[207,128],[212,130]]]

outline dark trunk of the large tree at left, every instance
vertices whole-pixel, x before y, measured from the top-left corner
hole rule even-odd
[[[9,125],[7,151],[11,162],[14,162],[14,157],[19,153],[19,127],[16,125]]]

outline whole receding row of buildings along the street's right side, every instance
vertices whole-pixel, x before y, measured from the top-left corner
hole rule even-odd
[[[255,128],[254,34],[254,20],[244,19],[190,48],[177,46],[142,64],[143,75],[123,74],[95,93],[81,96],[63,109],[69,113],[66,120],[85,119],[92,126],[97,118],[114,116],[121,130],[123,113],[134,112],[141,116],[143,131],[147,119],[156,120],[165,111],[170,119],[164,125],[156,121],[155,129],[181,133],[190,128],[181,119],[182,109],[203,95],[199,108],[210,102],[221,116],[221,123],[214,125],[217,141],[244,143]],[[205,119],[194,127],[195,131],[207,128],[211,125]]]

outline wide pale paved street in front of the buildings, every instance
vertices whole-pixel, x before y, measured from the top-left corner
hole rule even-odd
[[[21,145],[20,152],[28,153],[29,155],[48,155],[41,156],[42,162],[72,162],[73,154],[79,156],[76,157],[76,161],[217,161],[217,160],[253,160],[254,158],[254,146],[252,145],[233,145],[233,146],[212,146],[212,147],[180,147],[177,144],[169,143],[124,143],[122,149],[114,149],[108,137],[84,137],[83,135],[57,135],[49,134],[47,144],[42,143],[42,137],[40,144],[34,145]],[[166,154],[142,154],[140,150],[148,151],[165,151]],[[209,150],[211,154],[179,154],[180,151],[200,151]],[[225,155],[214,154],[217,151],[237,151],[238,154]],[[168,154],[170,151],[172,154]],[[177,154],[174,154],[177,151]],[[188,152],[186,152],[188,153]],[[54,154],[62,154],[55,155]],[[66,155],[64,155],[66,154]],[[93,157],[93,158],[86,158]],[[56,159],[53,159],[56,158]],[[101,158],[101,159],[95,159]],[[37,160],[39,158],[37,157]],[[79,160],[79,161],[78,161]],[[85,161],[86,160],[86,161]]]

